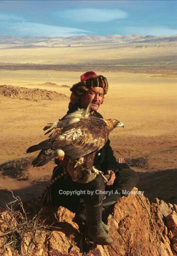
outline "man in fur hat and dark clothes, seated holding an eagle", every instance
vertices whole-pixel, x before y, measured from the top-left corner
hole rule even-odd
[[[97,76],[93,71],[84,73],[80,77],[80,82],[71,88],[71,101],[67,114],[78,108],[87,108],[90,103],[90,114],[103,118],[97,110],[103,103],[107,90],[108,83],[105,77]],[[53,178],[67,168],[57,159],[55,162],[58,167],[53,170]],[[109,139],[105,146],[96,153],[94,167],[102,171],[104,175],[108,175],[106,183],[101,175],[94,176],[93,173],[90,173],[93,176],[88,181],[84,181],[85,183],[83,180],[73,181],[71,176],[61,178],[51,187],[51,203],[53,206],[62,205],[71,209],[82,219],[85,217],[88,237],[97,244],[108,245],[112,243],[112,238],[107,234],[108,227],[102,222],[102,212],[122,197],[122,190],[132,190],[137,184],[138,177],[129,166],[117,163]],[[77,171],[77,167],[73,165],[72,171]],[[59,191],[67,190],[83,191],[83,194],[79,197],[59,193]],[[110,191],[110,193],[104,193],[105,191]],[[84,209],[80,207],[80,198],[84,199]]]

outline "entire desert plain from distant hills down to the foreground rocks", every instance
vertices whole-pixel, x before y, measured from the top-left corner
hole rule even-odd
[[[32,167],[28,147],[47,138],[43,128],[66,113],[70,88],[94,70],[109,91],[99,112],[116,118],[111,146],[115,157],[131,159],[137,187],[153,200],[177,203],[176,42],[0,48],[0,205],[37,198],[50,181],[54,162]],[[12,86],[12,87],[10,87]],[[19,93],[15,89],[22,87]],[[11,90],[10,93],[6,93]],[[39,89],[24,97],[26,89]],[[41,98],[44,90],[56,91]],[[27,95],[27,94],[26,94]]]

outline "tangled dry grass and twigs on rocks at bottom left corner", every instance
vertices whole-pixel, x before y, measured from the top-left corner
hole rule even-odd
[[[49,221],[53,218],[46,215],[40,204],[35,201],[23,203],[20,197],[10,192],[14,200],[6,204],[7,210],[0,220],[0,243],[4,252],[10,248],[13,255],[28,256],[40,244],[41,236],[43,245],[50,238],[54,223],[49,224]],[[56,223],[54,229],[57,229]]]

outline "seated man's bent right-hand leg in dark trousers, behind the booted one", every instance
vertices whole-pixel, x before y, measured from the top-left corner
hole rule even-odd
[[[106,198],[103,200],[103,207],[107,208],[117,202],[122,195],[123,190],[131,191],[138,183],[138,175],[135,171],[130,169],[127,165],[120,165],[117,163],[119,170],[115,173],[115,181],[112,186],[106,187],[106,190],[110,190],[112,193],[106,194]],[[120,166],[120,167],[119,167]]]

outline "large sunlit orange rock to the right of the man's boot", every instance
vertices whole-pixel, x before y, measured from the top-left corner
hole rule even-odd
[[[131,195],[131,200],[130,196],[121,198],[115,205],[113,215],[110,215],[108,218],[108,226],[111,227],[111,237],[114,240],[110,249],[112,255],[172,256],[173,254],[169,246],[170,241],[166,236],[167,231],[164,232],[166,228],[161,218],[163,214],[159,212],[160,208],[163,209],[161,207],[163,202],[159,202],[159,205],[156,204],[155,209],[154,206],[151,207],[149,205],[145,197],[140,197],[146,208],[137,195]],[[155,209],[155,212],[152,212],[153,209]],[[157,217],[158,222],[156,222]],[[163,239],[161,231],[164,232]],[[140,234],[142,235],[140,236]]]

